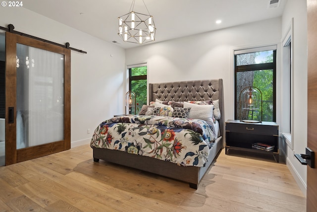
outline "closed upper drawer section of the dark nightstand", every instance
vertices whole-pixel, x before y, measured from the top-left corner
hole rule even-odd
[[[272,125],[226,123],[225,129],[228,132],[235,132],[235,133],[278,136],[278,126],[272,126]]]

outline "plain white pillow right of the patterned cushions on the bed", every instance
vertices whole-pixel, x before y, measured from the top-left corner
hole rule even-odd
[[[212,122],[213,105],[198,105],[184,102],[184,108],[190,107],[189,119],[201,119]]]

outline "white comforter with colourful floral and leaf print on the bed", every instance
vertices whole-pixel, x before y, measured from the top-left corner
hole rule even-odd
[[[91,146],[126,151],[182,166],[205,166],[217,138],[213,123],[165,116],[118,116],[101,123]]]

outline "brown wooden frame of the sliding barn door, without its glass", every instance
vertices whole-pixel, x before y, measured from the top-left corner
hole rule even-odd
[[[16,149],[16,44],[64,55],[64,140]],[[10,165],[70,149],[70,50],[50,43],[5,33],[5,165]],[[14,123],[9,124],[8,108],[14,107]]]

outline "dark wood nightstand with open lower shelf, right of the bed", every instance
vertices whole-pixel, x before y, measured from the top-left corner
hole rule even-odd
[[[263,154],[271,154],[279,161],[278,125],[275,122],[246,123],[239,120],[225,122],[226,147],[229,149],[246,150]],[[271,150],[255,149],[254,143],[274,145]]]

